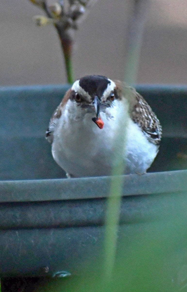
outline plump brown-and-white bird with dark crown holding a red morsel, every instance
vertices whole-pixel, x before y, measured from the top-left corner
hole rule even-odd
[[[146,100],[119,80],[77,79],[46,131],[52,156],[68,178],[143,174],[154,161],[162,127]]]

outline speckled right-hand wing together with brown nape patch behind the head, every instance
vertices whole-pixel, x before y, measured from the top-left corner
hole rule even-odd
[[[137,123],[147,139],[155,145],[159,145],[162,127],[156,114],[152,111],[146,100],[137,93],[135,88],[126,86],[124,82],[114,81],[119,96],[124,96],[129,101],[129,114],[131,119]]]

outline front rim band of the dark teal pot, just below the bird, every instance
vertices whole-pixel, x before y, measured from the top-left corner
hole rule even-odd
[[[0,181],[0,203],[106,198],[115,179],[119,178]],[[122,184],[123,197],[186,192],[187,170],[122,175]]]

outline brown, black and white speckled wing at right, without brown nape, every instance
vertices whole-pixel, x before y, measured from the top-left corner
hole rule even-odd
[[[131,118],[140,126],[148,140],[158,145],[162,135],[160,122],[142,95],[137,93],[134,88],[131,88],[131,90],[136,101],[131,112]]]

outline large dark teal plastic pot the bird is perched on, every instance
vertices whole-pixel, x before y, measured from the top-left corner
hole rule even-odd
[[[163,139],[149,173],[123,176],[114,278],[125,291],[186,291],[187,86],[136,88]],[[45,130],[67,89],[0,89],[0,277],[102,274],[106,198],[117,178],[63,179]]]

